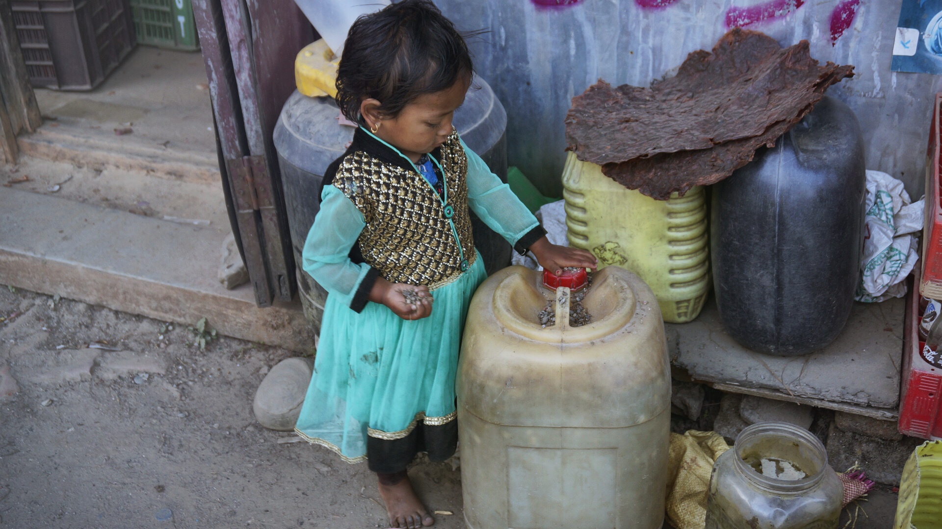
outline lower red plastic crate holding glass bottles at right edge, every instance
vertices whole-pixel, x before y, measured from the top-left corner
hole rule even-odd
[[[899,428],[908,436],[942,439],[942,358],[928,355],[919,340],[918,294],[910,289],[906,300]]]

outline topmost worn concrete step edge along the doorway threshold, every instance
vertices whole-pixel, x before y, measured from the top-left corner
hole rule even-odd
[[[155,176],[195,184],[219,183],[219,160],[212,151],[166,146],[134,134],[115,136],[111,129],[91,129],[67,121],[47,121],[33,134],[17,138],[24,154],[90,167],[146,170]]]

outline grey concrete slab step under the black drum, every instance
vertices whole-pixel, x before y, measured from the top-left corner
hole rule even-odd
[[[896,420],[905,302],[854,303],[834,342],[797,357],[751,351],[726,333],[710,299],[696,320],[666,324],[671,362],[692,379],[728,393],[744,393]]]

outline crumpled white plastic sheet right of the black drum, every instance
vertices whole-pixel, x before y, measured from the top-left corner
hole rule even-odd
[[[923,201],[910,203],[902,182],[878,170],[867,171],[867,218],[860,281],[854,299],[884,301],[906,295],[903,280],[919,258]]]

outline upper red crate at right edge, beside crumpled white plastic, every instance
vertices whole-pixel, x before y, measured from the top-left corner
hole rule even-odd
[[[929,128],[929,148],[926,151],[926,216],[922,228],[922,296],[942,299],[942,207],[939,205],[939,151],[942,134],[939,126],[942,93],[935,94],[933,122]]]

